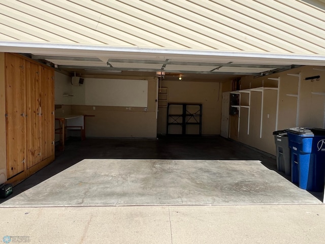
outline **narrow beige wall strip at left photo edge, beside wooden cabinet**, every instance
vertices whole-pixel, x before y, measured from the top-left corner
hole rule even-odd
[[[0,53],[0,184],[7,180],[5,54]]]

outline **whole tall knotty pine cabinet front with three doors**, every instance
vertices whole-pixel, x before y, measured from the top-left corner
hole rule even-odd
[[[6,53],[5,59],[7,178],[11,178],[34,172],[33,166],[54,156],[54,71],[15,54]]]

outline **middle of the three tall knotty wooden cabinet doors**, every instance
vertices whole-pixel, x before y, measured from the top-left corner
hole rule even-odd
[[[41,162],[40,66],[26,62],[27,169]]]

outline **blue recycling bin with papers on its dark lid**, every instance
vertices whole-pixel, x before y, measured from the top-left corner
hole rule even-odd
[[[291,182],[307,191],[323,191],[325,130],[300,127],[285,131],[291,149]]]

